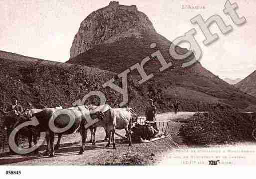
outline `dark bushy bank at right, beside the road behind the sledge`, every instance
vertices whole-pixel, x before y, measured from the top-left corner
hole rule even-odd
[[[179,135],[186,145],[255,142],[255,119],[256,113],[196,113],[184,120]]]

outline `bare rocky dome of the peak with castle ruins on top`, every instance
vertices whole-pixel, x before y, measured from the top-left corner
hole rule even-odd
[[[101,43],[131,36],[140,38],[145,31],[156,32],[147,15],[138,11],[136,5],[120,5],[118,1],[111,1],[81,22],[70,49],[70,58]]]

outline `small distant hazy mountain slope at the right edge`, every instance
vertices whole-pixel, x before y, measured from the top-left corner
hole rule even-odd
[[[239,83],[235,84],[235,87],[250,95],[256,96],[256,71],[254,71]]]

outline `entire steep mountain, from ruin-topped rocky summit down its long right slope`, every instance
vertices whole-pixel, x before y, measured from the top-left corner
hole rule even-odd
[[[180,100],[183,110],[189,111],[212,111],[214,105],[218,103],[228,108],[239,108],[241,110],[252,110],[255,107],[256,98],[244,94],[234,86],[221,80],[218,76],[202,67],[199,62],[190,67],[182,68],[181,65],[192,60],[194,54],[192,53],[182,60],[177,60],[177,57],[171,56],[169,48],[172,42],[154,30],[148,17],[145,17],[147,19],[146,22],[140,20],[142,12],[137,9],[129,11],[126,9],[127,6],[123,8],[119,4],[115,4],[112,9],[110,7],[112,8],[113,5],[110,4],[92,13],[104,14],[104,21],[107,24],[111,24],[110,26],[104,26],[102,31],[101,20],[95,18],[94,24],[96,26],[94,26],[93,30],[101,33],[98,36],[94,34],[93,38],[97,39],[104,36],[104,38],[101,38],[101,42],[87,48],[87,44],[91,39],[86,41],[89,33],[84,27],[91,25],[91,22],[87,20],[89,17],[91,18],[90,14],[82,22],[83,25],[80,26],[77,33],[84,35],[84,37],[79,37],[84,39],[83,43],[79,47],[77,46],[77,49],[83,50],[76,56],[71,53],[71,58],[66,63],[90,66],[118,74],[135,63],[141,63],[145,57],[149,56],[150,60],[146,62],[144,69],[147,74],[153,73],[154,77],[141,85],[138,84],[141,77],[137,70],[131,71],[128,77],[132,80],[130,86],[134,87],[146,99],[153,98],[160,110],[169,111],[171,104],[176,99]],[[108,8],[108,10],[105,11],[105,8]],[[130,27],[128,25],[127,28],[120,31],[125,19],[116,18],[113,20],[112,17],[122,16],[122,14],[131,14],[134,19],[138,19],[134,28],[128,29]],[[130,24],[132,21],[127,21],[127,23]],[[150,28],[140,29],[137,26],[150,26]],[[119,31],[115,32],[115,29],[119,29]],[[112,36],[108,35],[110,32]],[[73,43],[76,41],[77,38],[75,37]],[[154,47],[152,43],[155,43],[156,46]],[[73,45],[71,51],[72,49]],[[159,71],[159,68],[161,68],[159,60],[151,56],[157,50],[160,50],[168,63],[172,62],[173,64],[163,72]],[[188,50],[176,46],[176,51],[179,54],[184,54]],[[129,97],[133,98],[133,95],[130,94]]]

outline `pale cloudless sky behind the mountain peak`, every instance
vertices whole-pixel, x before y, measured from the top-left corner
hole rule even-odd
[[[221,78],[245,78],[256,70],[256,0],[237,2],[239,16],[247,23],[236,26],[223,13],[226,0],[119,0],[135,4],[147,14],[158,33],[169,40],[184,35],[191,28],[202,51],[201,63]],[[0,50],[52,61],[65,62],[81,21],[92,11],[108,5],[110,0],[0,0]],[[182,5],[205,6],[205,9],[183,9]],[[204,35],[190,22],[201,14],[206,20],[219,14],[233,31],[223,35],[216,24],[212,32],[219,39],[205,46]],[[186,45],[183,47],[187,47]]]

